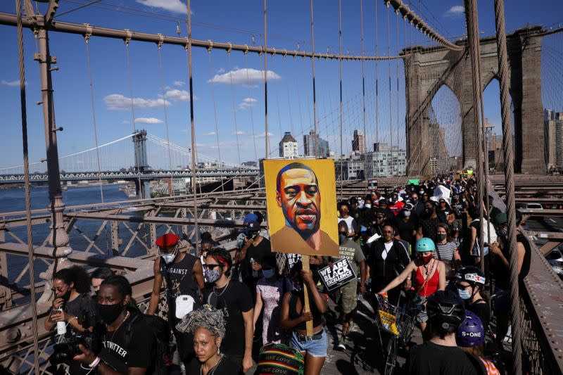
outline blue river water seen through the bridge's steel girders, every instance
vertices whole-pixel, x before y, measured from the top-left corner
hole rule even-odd
[[[118,184],[108,184],[103,186],[104,202],[127,201],[125,193],[119,190]],[[87,205],[92,203],[101,203],[101,194],[99,186],[85,186],[85,187],[69,187],[68,190],[63,191],[63,201],[66,207],[73,205]],[[49,203],[49,188],[46,186],[32,186],[31,189],[31,206],[33,210],[46,208]],[[25,189],[1,189],[0,190],[0,212],[13,212],[25,210]],[[45,215],[45,214],[42,214]],[[128,214],[130,215],[130,214]],[[84,250],[89,245],[89,242],[84,239],[77,229],[84,232],[90,239],[94,238],[96,231],[101,227],[102,222],[99,220],[77,220],[76,228],[70,231],[70,245],[72,248]],[[136,224],[131,224],[134,230]],[[148,228],[147,228],[148,229]],[[90,251],[96,255],[103,257],[110,256],[110,224],[101,231],[101,234],[96,239],[96,246],[101,251],[92,248]],[[49,236],[49,224],[38,224],[33,226],[33,243],[34,245],[41,246],[43,241]],[[127,232],[127,233],[125,233]],[[141,230],[141,235],[146,236],[146,230]],[[120,236],[123,239],[123,247],[129,241],[131,235],[125,227],[120,225]],[[17,237],[17,238],[16,238]],[[12,228],[11,231],[6,233],[6,242],[19,242],[21,239],[27,243],[27,229],[25,226]],[[146,250],[141,246],[132,248],[127,254],[128,256],[136,256],[144,253]],[[8,282],[13,283],[18,277],[20,272],[27,265],[27,256],[8,255]],[[46,263],[43,260],[35,261],[35,279],[39,281],[39,273],[46,269]],[[20,286],[29,284],[29,276],[26,273],[18,282]]]

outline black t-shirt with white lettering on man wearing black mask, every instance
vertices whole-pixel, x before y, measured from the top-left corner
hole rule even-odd
[[[116,331],[104,332],[101,337],[100,359],[122,374],[127,374],[129,367],[150,369],[156,355],[156,340],[151,327],[142,317],[130,324],[134,314],[141,313],[131,312]],[[125,336],[129,324],[131,333],[127,343]]]

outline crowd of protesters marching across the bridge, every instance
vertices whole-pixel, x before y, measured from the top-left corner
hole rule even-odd
[[[348,197],[338,210],[339,256],[311,256],[308,271],[301,255],[272,252],[260,212],[245,217],[233,251],[207,232],[198,252],[175,234],[160,236],[146,314],[129,281],[110,269],[58,270],[45,329],[56,327],[80,350],[69,344],[55,354],[70,374],[166,374],[172,362],[185,374],[242,374],[255,363],[255,374],[321,374],[330,345],[328,301],[338,314],[334,349],[347,350],[359,304],[371,303],[377,314],[380,295],[405,306],[424,338],[410,348],[407,374],[500,374],[495,353],[510,326],[507,216],[479,202],[476,180],[376,189]],[[520,232],[516,250],[521,282],[531,248]],[[358,277],[329,292],[317,270],[342,259]]]

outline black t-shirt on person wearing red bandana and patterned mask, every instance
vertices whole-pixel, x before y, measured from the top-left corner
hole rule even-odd
[[[231,280],[223,288],[206,288],[204,301],[216,309],[223,310],[224,317],[227,320],[227,331],[221,343],[221,351],[226,355],[244,355],[244,319],[242,313],[248,312],[254,307],[248,287],[239,281]]]

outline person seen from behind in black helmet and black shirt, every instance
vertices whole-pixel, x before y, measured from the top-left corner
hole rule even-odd
[[[466,354],[455,343],[455,331],[465,319],[463,301],[452,291],[436,291],[428,298],[430,340],[410,350],[409,375],[486,375],[479,358]]]

